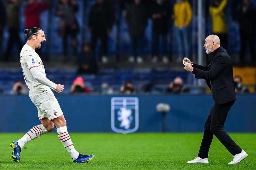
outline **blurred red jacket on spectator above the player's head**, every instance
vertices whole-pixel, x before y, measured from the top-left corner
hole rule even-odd
[[[43,5],[38,2],[27,4],[24,8],[26,18],[25,27],[40,27],[40,13],[46,10],[47,7],[48,4],[46,2]]]

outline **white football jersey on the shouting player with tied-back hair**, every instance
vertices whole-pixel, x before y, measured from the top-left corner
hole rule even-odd
[[[35,50],[27,44],[25,44],[21,49],[20,63],[24,75],[24,80],[29,88],[29,96],[37,96],[39,94],[45,93],[47,89],[49,89],[50,87],[56,87],[56,84],[51,81],[49,81],[50,83],[48,87],[35,80],[30,70],[36,69],[37,74],[40,74],[45,77],[45,69],[41,58],[38,56]]]

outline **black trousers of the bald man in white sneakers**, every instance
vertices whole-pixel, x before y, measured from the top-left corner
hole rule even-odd
[[[235,100],[224,104],[217,104],[214,102],[209,116],[204,124],[203,139],[201,142],[198,157],[208,158],[208,152],[210,149],[213,135],[215,135],[219,139],[219,141],[227,148],[227,150],[232,155],[241,153],[242,149],[230,138],[228,133],[223,130],[228,111],[234,104],[234,102]]]

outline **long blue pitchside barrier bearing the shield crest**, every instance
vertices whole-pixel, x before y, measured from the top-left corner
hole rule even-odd
[[[207,94],[56,95],[56,98],[71,132],[203,132],[213,104],[211,95]],[[170,111],[159,113],[156,110],[159,103],[168,104]],[[255,94],[237,95],[224,129],[228,132],[256,132],[255,105]],[[26,132],[40,124],[37,108],[28,96],[0,96],[0,108],[0,132]]]

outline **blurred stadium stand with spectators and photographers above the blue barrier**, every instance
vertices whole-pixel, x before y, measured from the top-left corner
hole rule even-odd
[[[204,37],[218,35],[236,92],[255,92],[256,0],[0,0],[0,15],[0,93],[28,93],[18,55],[23,29],[33,27],[46,34],[36,49],[46,76],[64,93],[210,92],[182,64],[198,61],[199,18],[201,50]]]

